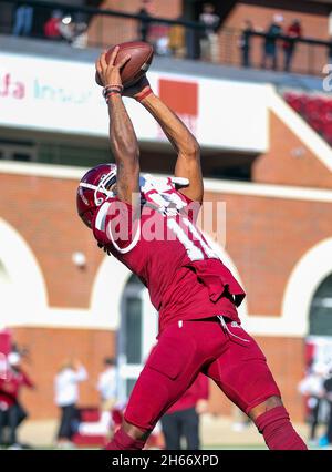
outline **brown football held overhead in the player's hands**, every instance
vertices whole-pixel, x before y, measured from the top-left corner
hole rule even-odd
[[[123,86],[133,85],[134,83],[138,82],[145,72],[147,72],[154,57],[153,47],[144,41],[129,41],[115,45],[120,47],[115,59],[115,64],[118,63],[125,55],[131,55],[128,62],[126,62],[126,64],[121,70],[121,79]],[[107,63],[115,45],[108,49],[106,52]],[[97,72],[95,73],[95,81],[98,85],[103,86]]]

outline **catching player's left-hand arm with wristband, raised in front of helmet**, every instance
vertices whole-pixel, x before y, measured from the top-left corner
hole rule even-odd
[[[117,165],[116,192],[121,201],[133,203],[133,196],[139,193],[139,148],[133,123],[122,101],[122,81],[120,71],[131,59],[129,55],[114,65],[118,48],[115,48],[108,64],[105,53],[96,61],[96,71],[104,86],[112,86],[107,95],[110,115],[110,143]]]

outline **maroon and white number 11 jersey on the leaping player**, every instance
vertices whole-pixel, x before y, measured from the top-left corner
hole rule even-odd
[[[197,203],[167,179],[163,192],[141,187],[139,217],[116,197],[93,219],[98,244],[136,274],[159,312],[159,330],[176,320],[224,315],[239,321],[243,289],[195,225]],[[195,207],[196,205],[196,207]]]

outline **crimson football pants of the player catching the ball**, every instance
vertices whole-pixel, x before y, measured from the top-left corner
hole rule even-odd
[[[239,325],[218,317],[185,320],[160,334],[133,389],[125,420],[152,430],[198,372],[246,413],[269,397],[280,397],[266,357]]]

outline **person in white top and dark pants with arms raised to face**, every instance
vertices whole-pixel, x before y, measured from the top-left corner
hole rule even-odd
[[[87,379],[85,368],[79,360],[66,360],[54,380],[55,404],[61,409],[58,447],[72,445],[72,437],[79,429],[79,383]]]

